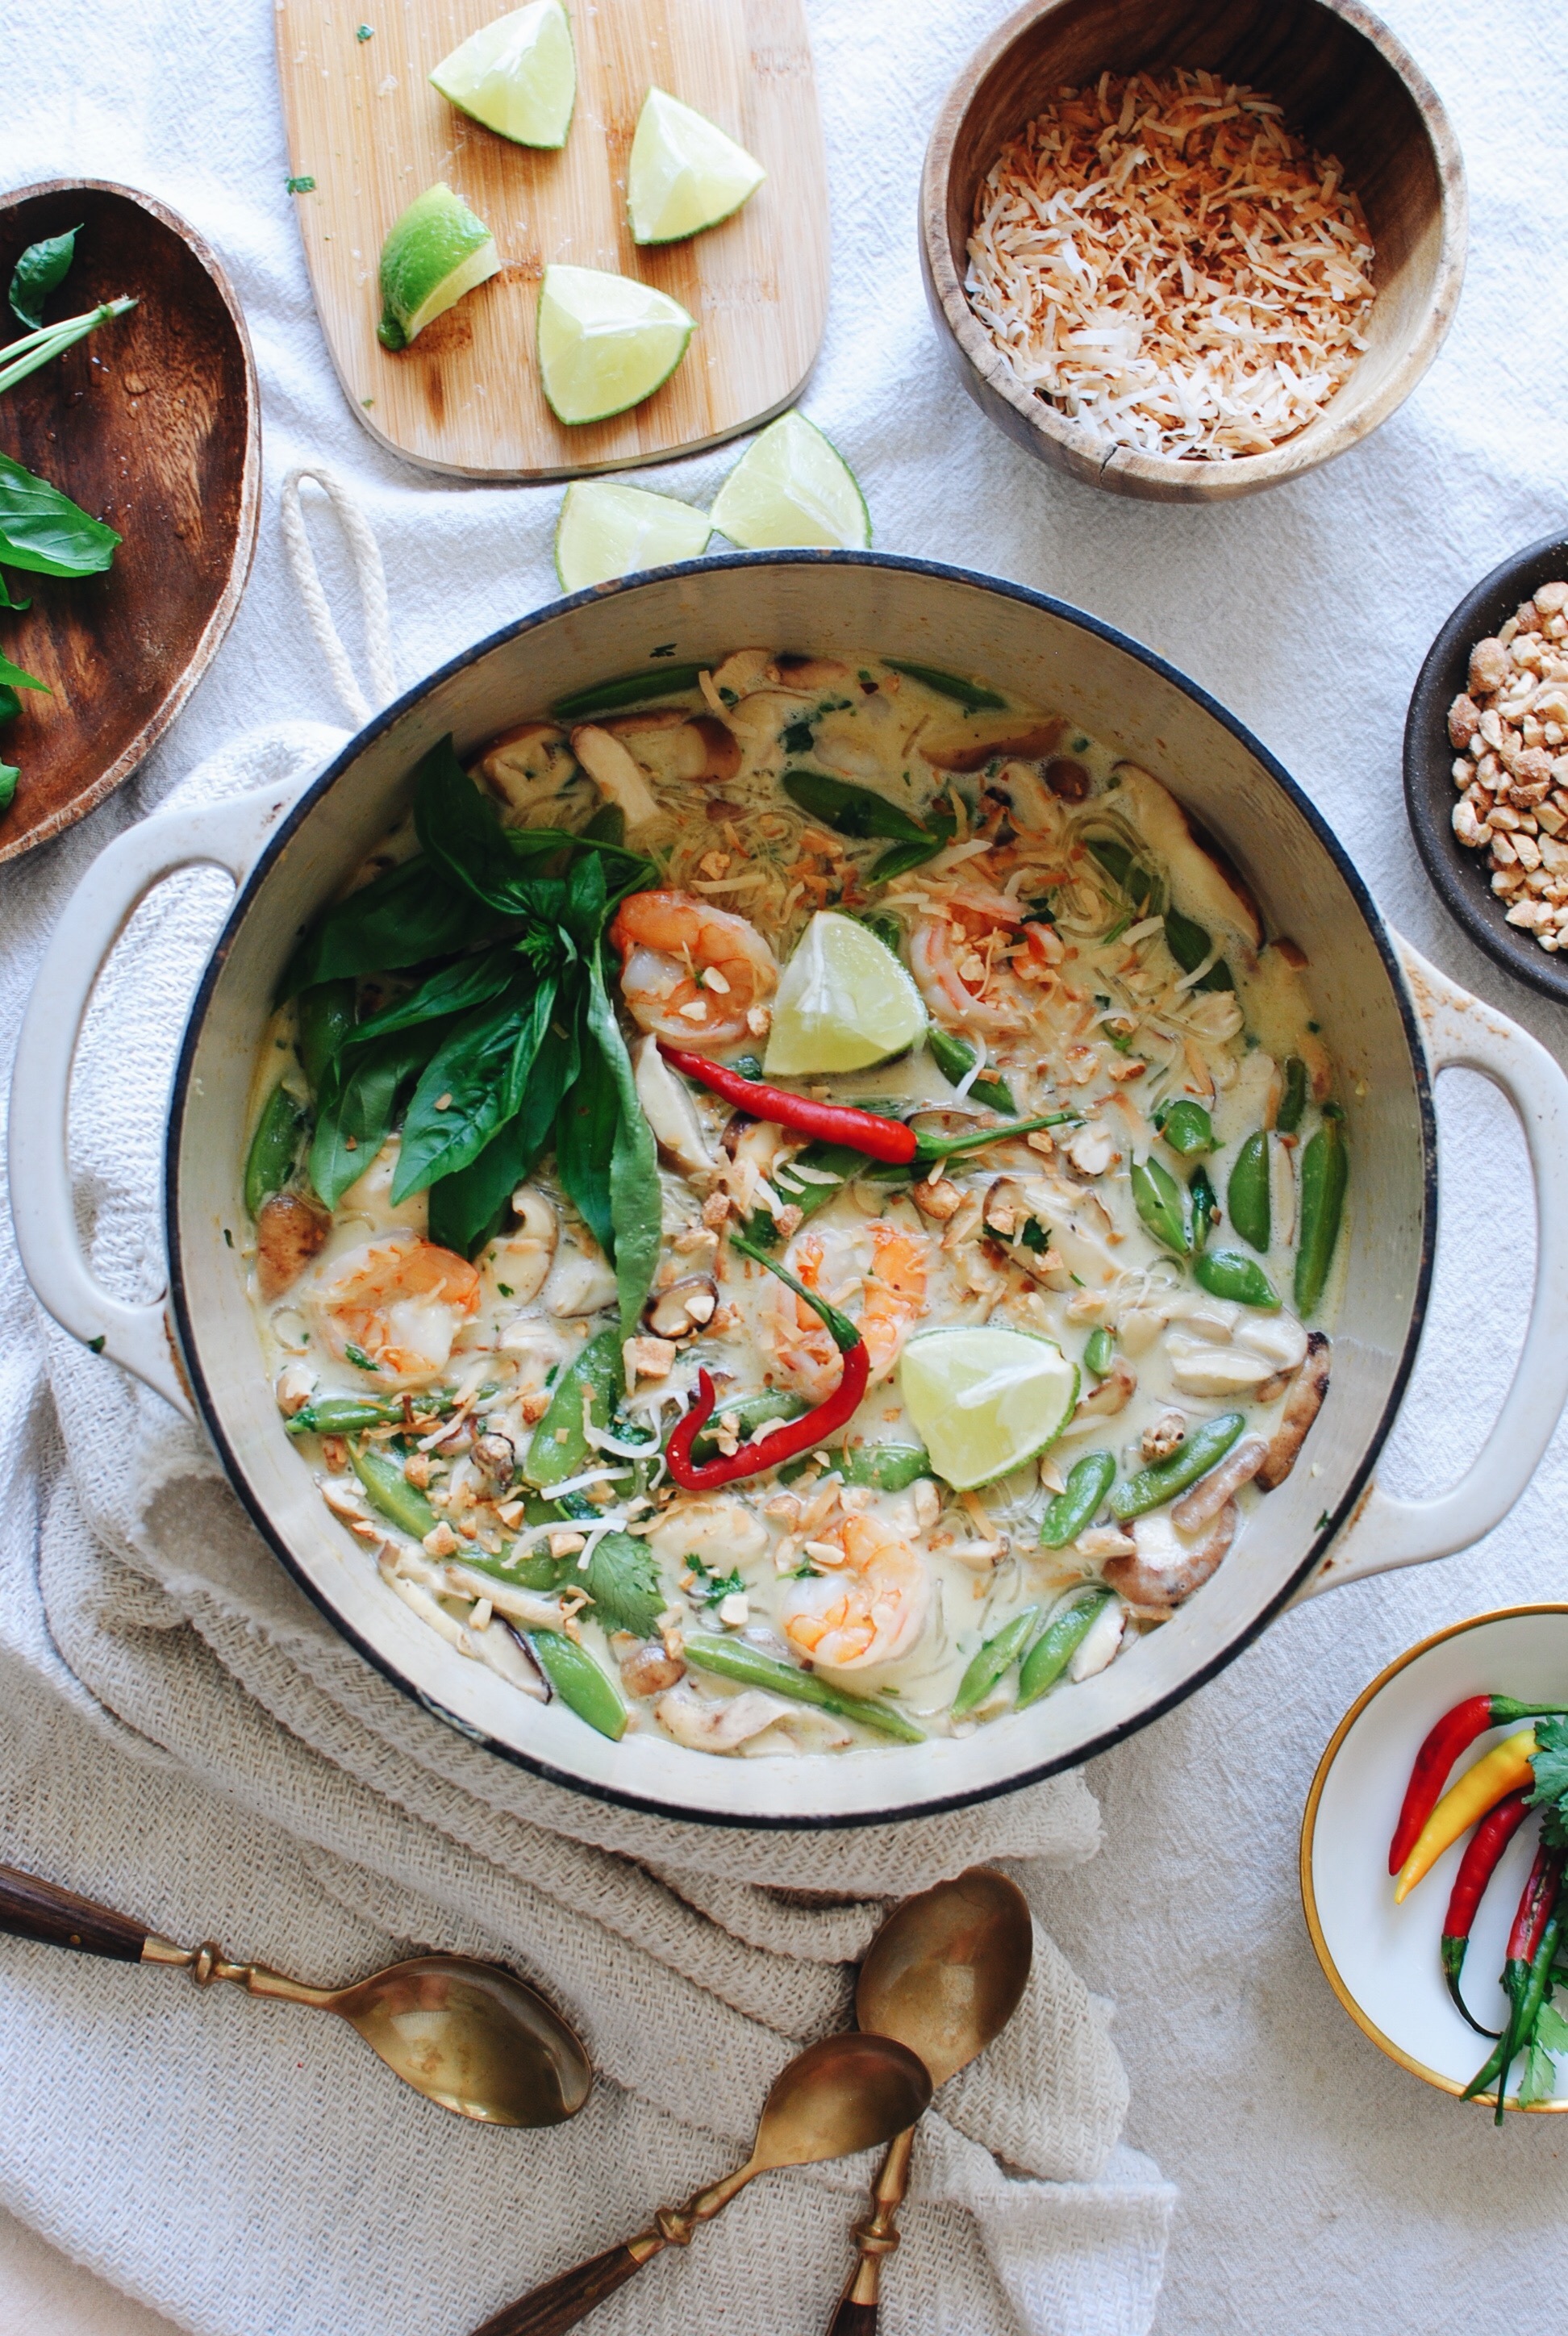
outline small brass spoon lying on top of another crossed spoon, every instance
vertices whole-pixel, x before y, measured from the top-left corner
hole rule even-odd
[[[928,2100],[930,2077],[902,2044],[853,2030],[809,2044],[773,2079],[745,2165],[685,2205],[661,2205],[647,2231],[507,2303],[474,2336],[561,2336],[575,2329],[664,2247],[687,2247],[696,2224],[727,2208],[757,2175],[876,2149],[914,2123]]]

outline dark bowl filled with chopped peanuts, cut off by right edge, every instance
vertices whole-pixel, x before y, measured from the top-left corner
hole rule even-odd
[[[1449,916],[1568,1002],[1568,530],[1493,568],[1437,633],[1404,722],[1404,804]]]

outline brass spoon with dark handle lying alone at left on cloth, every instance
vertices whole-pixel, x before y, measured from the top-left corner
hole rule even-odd
[[[199,1988],[231,1979],[250,1995],[337,2011],[425,2100],[486,2126],[558,2126],[589,2098],[594,2065],[542,1995],[493,1962],[416,1955],[355,1988],[306,1988],[220,1946],[173,1946],[112,1906],[0,1866],[0,1932],[75,1946],[112,1962],[161,1962]]]

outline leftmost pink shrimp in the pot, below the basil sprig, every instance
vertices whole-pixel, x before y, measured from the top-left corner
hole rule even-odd
[[[439,1378],[479,1313],[479,1273],[432,1240],[388,1233],[320,1266],[306,1303],[334,1355],[365,1355],[381,1385],[416,1388]]]

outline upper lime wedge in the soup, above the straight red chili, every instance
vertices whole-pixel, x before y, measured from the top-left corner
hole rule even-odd
[[[783,969],[764,1070],[806,1079],[869,1070],[925,1035],[925,1007],[893,951],[853,916],[818,911]]]

